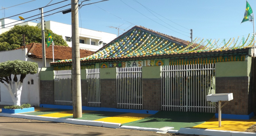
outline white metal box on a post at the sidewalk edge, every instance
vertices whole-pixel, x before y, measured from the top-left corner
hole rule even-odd
[[[211,94],[207,95],[206,99],[208,102],[219,102],[219,127],[221,127],[221,107],[226,105],[230,100],[233,100],[233,93]],[[227,102],[221,106],[221,101]]]

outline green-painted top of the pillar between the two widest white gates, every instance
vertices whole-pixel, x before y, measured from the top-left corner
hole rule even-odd
[[[160,78],[161,66],[142,67],[142,78]]]

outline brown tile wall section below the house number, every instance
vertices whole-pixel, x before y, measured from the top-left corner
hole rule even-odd
[[[116,79],[100,79],[101,107],[116,108]]]

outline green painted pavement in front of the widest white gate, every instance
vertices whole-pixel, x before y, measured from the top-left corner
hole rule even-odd
[[[214,113],[158,111],[156,114],[138,121],[124,123],[126,126],[138,126],[147,128],[162,128],[165,126],[180,128],[193,127],[204,123],[214,117]]]

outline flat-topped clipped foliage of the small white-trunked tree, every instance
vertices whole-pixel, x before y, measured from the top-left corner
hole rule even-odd
[[[30,61],[5,61],[0,63],[0,82],[4,81],[8,84],[11,79],[11,75],[14,75],[13,81],[17,82],[17,75],[20,75],[20,82],[28,74],[36,74],[38,70],[38,64]]]

